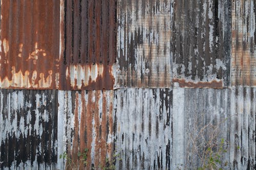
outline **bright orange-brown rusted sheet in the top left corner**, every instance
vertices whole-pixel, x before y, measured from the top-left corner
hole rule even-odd
[[[58,88],[59,1],[1,1],[1,88]]]

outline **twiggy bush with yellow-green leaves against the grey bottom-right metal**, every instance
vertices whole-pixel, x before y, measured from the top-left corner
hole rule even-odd
[[[229,149],[229,143],[221,138],[220,127],[226,122],[227,118],[217,125],[211,122],[197,131],[197,134],[190,134],[189,138],[189,156],[185,169],[188,168],[191,159],[196,157],[198,170],[218,169],[222,170],[227,167],[228,162],[225,161],[225,153]],[[195,160],[195,159],[193,159]],[[195,163],[192,161],[192,163]],[[193,165],[194,166],[194,165]]]

